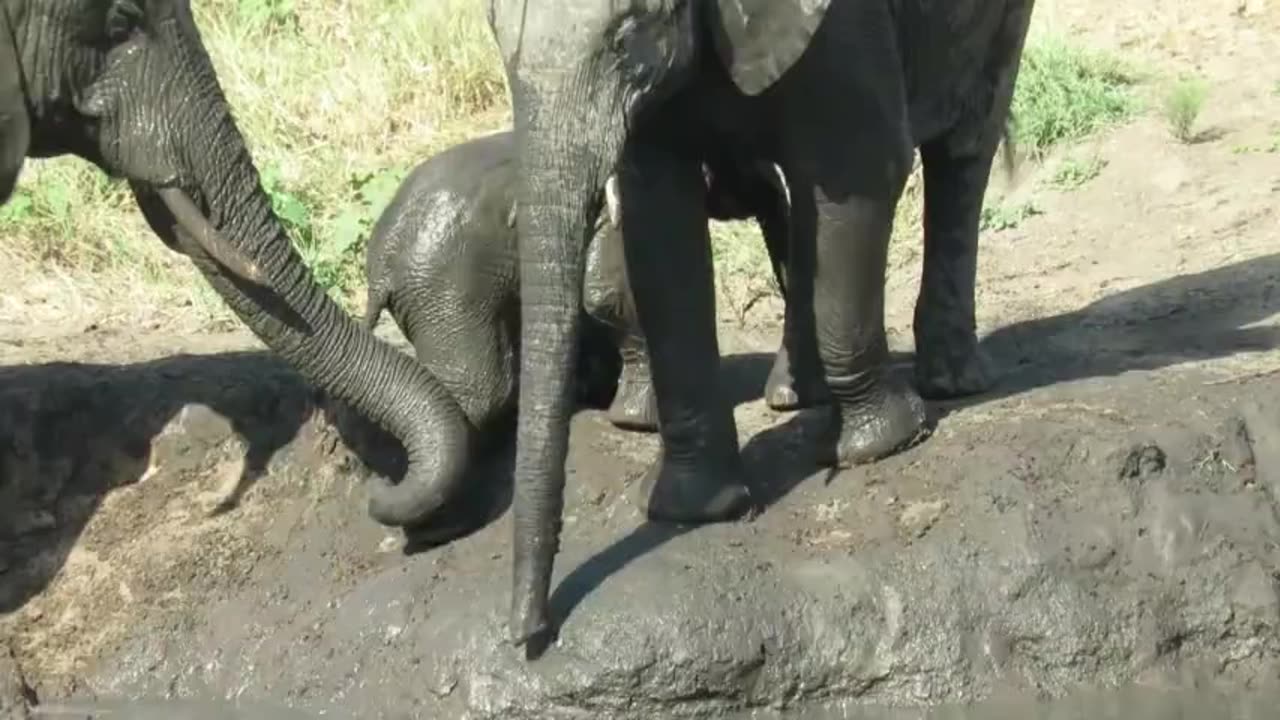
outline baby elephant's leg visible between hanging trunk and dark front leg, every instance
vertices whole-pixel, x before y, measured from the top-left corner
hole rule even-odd
[[[612,218],[605,219],[588,249],[582,291],[586,313],[613,331],[622,360],[609,421],[625,430],[657,432],[658,401],[649,374],[649,350],[627,283],[622,233]]]

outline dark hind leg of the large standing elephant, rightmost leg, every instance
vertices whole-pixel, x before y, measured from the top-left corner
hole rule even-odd
[[[924,273],[915,302],[915,382],[925,397],[963,397],[993,384],[978,345],[978,225],[995,151],[955,156],[945,140],[920,149]]]

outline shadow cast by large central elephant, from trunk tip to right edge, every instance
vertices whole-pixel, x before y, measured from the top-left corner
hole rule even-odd
[[[1184,361],[1266,351],[1280,345],[1280,328],[1249,327],[1280,313],[1280,254],[1224,265],[1112,293],[1079,310],[1014,323],[983,338],[1001,370],[983,395],[931,404],[931,423],[960,407],[977,406],[1085,378],[1153,370]],[[726,357],[722,374],[736,402],[760,397],[773,354]],[[910,380],[911,355],[895,354],[893,372]],[[822,409],[797,413],[755,434],[742,448],[762,512],[814,475],[835,474],[829,423]],[[827,430],[827,432],[824,432]],[[829,456],[829,455],[828,455]],[[632,560],[695,530],[643,523],[564,577],[552,594],[557,625]]]

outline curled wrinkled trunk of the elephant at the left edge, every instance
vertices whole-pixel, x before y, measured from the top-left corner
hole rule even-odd
[[[206,234],[225,238],[224,255],[238,255],[239,266],[256,277],[250,282],[236,263],[228,266],[214,252],[191,252],[193,261],[250,329],[308,383],[399,438],[407,473],[394,486],[376,478],[369,511],[385,525],[419,523],[462,478],[470,442],[462,410],[425,368],[375,338],[316,283],[273,213],[229,110],[206,117],[201,141],[189,143],[198,147],[189,163],[195,195],[207,214]],[[177,213],[174,219],[188,236],[200,231]],[[200,246],[210,247],[207,240]]]

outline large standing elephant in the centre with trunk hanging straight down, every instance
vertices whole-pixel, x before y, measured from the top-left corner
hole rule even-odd
[[[714,382],[700,163],[745,154],[782,168],[796,270],[788,305],[817,332],[835,400],[831,460],[891,455],[927,434],[920,395],[888,373],[883,320],[913,147],[925,174],[918,364],[931,393],[956,395],[987,384],[973,316],[978,218],[1032,5],[490,0],[521,168],[515,643],[536,638],[536,655],[552,630],[579,278],[604,179],[617,173],[625,199],[627,274],[662,421],[660,459],[641,486],[646,514],[739,518],[754,501]]]

